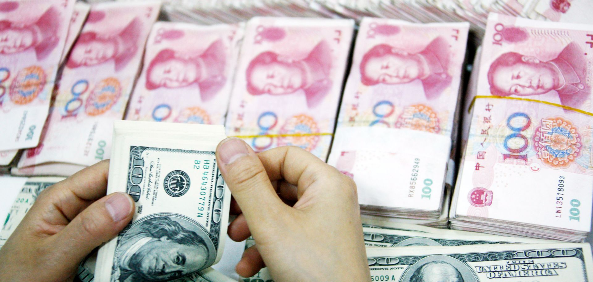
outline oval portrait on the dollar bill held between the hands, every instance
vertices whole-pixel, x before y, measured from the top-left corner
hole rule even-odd
[[[215,257],[212,242],[197,223],[170,214],[151,216],[123,233],[112,279],[170,281],[209,267]]]

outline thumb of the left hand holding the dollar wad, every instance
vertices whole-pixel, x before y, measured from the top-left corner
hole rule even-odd
[[[132,220],[134,204],[126,193],[109,194],[84,209],[52,236],[60,261],[78,265],[94,248],[114,238]]]

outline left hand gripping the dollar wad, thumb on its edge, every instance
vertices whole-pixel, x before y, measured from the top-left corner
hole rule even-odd
[[[132,219],[126,193],[105,196],[109,161],[42,191],[0,249],[0,281],[72,281],[78,264]]]

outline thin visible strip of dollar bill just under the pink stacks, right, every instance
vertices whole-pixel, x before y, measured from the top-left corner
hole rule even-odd
[[[363,227],[365,245],[391,246],[462,246],[498,243],[558,243],[560,241],[492,236],[476,232],[442,229],[438,233]],[[463,233],[462,233],[463,232]]]

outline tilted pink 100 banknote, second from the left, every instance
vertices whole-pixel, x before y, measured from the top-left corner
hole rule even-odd
[[[91,7],[65,63],[42,142],[18,163],[91,165],[107,158],[113,121],[132,91],[160,2],[104,2]]]

